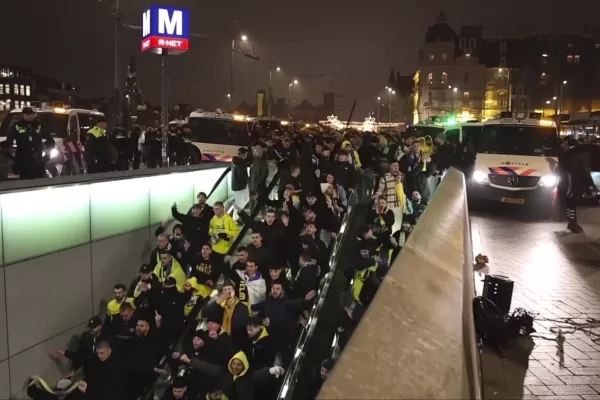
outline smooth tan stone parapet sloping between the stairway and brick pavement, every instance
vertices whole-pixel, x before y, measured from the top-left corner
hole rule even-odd
[[[481,399],[462,173],[442,179],[319,399]]]

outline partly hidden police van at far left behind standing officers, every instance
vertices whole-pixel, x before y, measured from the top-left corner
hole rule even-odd
[[[42,107],[34,108],[36,118],[40,121],[42,129],[49,132],[54,138],[54,148],[46,154],[46,170],[52,176],[69,174],[63,165],[66,161],[65,153],[69,151],[66,139],[77,142],[85,141],[85,135],[96,122],[104,118],[104,114],[95,110],[79,108]],[[0,125],[0,142],[4,142],[9,130],[21,119],[21,108],[15,108],[4,118]],[[13,144],[16,146],[16,144]]]

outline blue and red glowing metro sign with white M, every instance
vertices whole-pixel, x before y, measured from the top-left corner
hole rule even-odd
[[[142,14],[142,51],[180,54],[190,48],[188,10],[169,6],[150,6]]]

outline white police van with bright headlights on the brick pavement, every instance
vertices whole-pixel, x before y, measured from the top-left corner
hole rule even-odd
[[[554,123],[488,120],[475,137],[469,201],[534,206],[549,215],[558,184],[559,137]]]

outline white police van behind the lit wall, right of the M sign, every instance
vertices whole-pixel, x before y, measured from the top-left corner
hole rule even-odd
[[[247,147],[252,121],[244,115],[194,111],[188,118],[191,129],[192,163],[231,162],[240,147]]]

